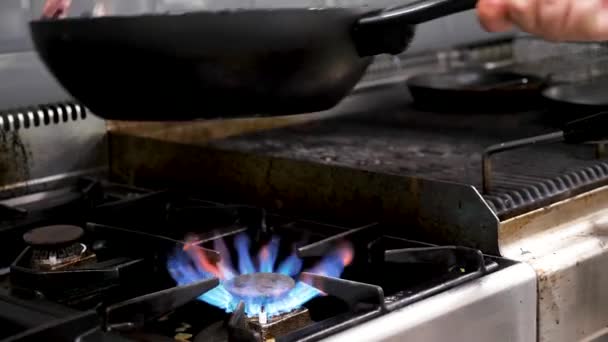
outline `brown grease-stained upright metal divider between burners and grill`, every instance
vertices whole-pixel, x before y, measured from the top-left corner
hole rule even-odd
[[[110,133],[110,153],[111,177],[127,184],[197,187],[325,220],[382,217],[416,239],[499,252],[498,218],[473,186],[118,133]]]

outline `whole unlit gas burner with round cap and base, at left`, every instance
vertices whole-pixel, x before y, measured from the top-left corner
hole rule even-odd
[[[95,254],[78,242],[84,230],[77,226],[55,225],[30,230],[23,240],[32,248],[34,269],[55,271],[95,260]]]

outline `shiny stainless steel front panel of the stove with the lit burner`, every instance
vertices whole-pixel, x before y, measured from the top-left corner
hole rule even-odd
[[[534,341],[536,303],[534,270],[515,263],[323,341]]]

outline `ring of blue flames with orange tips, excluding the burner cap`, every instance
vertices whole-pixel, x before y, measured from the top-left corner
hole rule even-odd
[[[240,234],[235,237],[235,246],[239,256],[239,271],[241,274],[274,271],[274,264],[278,256],[279,239],[273,238],[268,246],[263,247],[263,249],[266,248],[266,252],[260,251],[259,270],[255,269],[251,261],[249,244],[249,238],[245,234]],[[232,268],[229,258],[230,254],[223,242],[214,241],[214,248],[216,248],[222,256],[222,260],[217,263],[221,278],[220,285],[200,296],[199,300],[230,313],[236,309],[240,299],[228,292],[223,284],[224,281],[232,279],[238,274],[236,274]],[[173,279],[175,279],[179,285],[185,285],[214,277],[211,272],[212,270],[205,270],[205,266],[200,264],[200,256],[198,258],[199,259],[197,259],[194,253],[189,253],[189,249],[179,249],[169,257],[167,268]],[[339,277],[344,266],[349,264],[350,261],[352,261],[352,249],[338,248],[323,258],[310,272]],[[207,267],[212,268],[209,265]],[[279,264],[277,272],[295,277],[301,269],[302,260],[295,254],[292,254]],[[293,289],[279,298],[270,300],[268,298],[254,298],[247,300],[247,302],[245,302],[245,313],[249,317],[257,316],[262,313],[262,308],[264,308],[263,311],[266,315],[272,317],[299,309],[306,302],[322,294],[323,292],[320,290],[301,281],[297,281]]]

